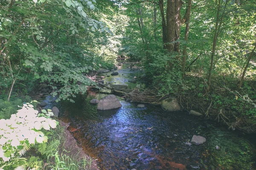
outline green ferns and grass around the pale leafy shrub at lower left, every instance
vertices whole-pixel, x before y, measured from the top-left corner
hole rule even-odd
[[[17,105],[22,105],[21,99],[10,102],[0,100],[0,119],[9,119],[18,110]],[[81,159],[64,147],[66,136],[64,127],[58,125],[52,130],[41,130],[48,136],[48,142],[24,145],[20,150],[21,157],[12,160],[6,165],[0,164],[3,170],[85,170],[92,160]],[[2,159],[2,158],[0,158]]]

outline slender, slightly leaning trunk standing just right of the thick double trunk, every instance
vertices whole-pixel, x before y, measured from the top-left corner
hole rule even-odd
[[[192,0],[188,0],[188,7],[186,10],[186,30],[185,30],[185,38],[184,40],[186,41],[186,44],[183,47],[183,58],[182,58],[182,68],[181,72],[184,75],[185,73],[185,67],[186,67],[186,56],[187,56],[187,42],[189,39],[189,21],[190,21],[190,13],[191,13],[191,5],[192,5]]]

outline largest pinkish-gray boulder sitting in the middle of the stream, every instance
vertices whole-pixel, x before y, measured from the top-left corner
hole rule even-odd
[[[97,109],[105,111],[105,110],[116,109],[116,108],[121,108],[121,107],[122,107],[122,105],[119,102],[119,100],[116,98],[116,96],[111,94],[111,95],[108,95],[108,96],[102,98],[99,101]]]

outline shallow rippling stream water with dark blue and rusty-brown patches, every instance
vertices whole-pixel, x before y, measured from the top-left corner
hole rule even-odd
[[[143,83],[128,82],[143,74],[128,66],[123,64],[117,76],[107,77],[111,72],[102,74],[106,77],[104,83],[144,88]],[[85,153],[98,159],[102,170],[255,169],[255,141],[236,130],[189,115],[188,111],[168,112],[150,104],[137,108],[140,103],[122,98],[119,98],[121,108],[97,111],[90,100],[106,95],[88,91],[78,95],[75,103],[57,103],[60,118],[77,129],[73,136]],[[193,135],[204,136],[207,141],[201,145],[190,144]]]

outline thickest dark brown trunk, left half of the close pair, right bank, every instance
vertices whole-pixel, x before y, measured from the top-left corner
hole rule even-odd
[[[167,0],[166,9],[166,49],[174,50],[175,41],[175,0]]]

